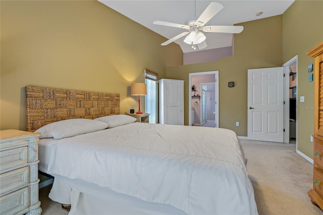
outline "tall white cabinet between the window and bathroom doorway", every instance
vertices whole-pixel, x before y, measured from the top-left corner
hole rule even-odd
[[[159,123],[184,125],[183,80],[159,80]]]

